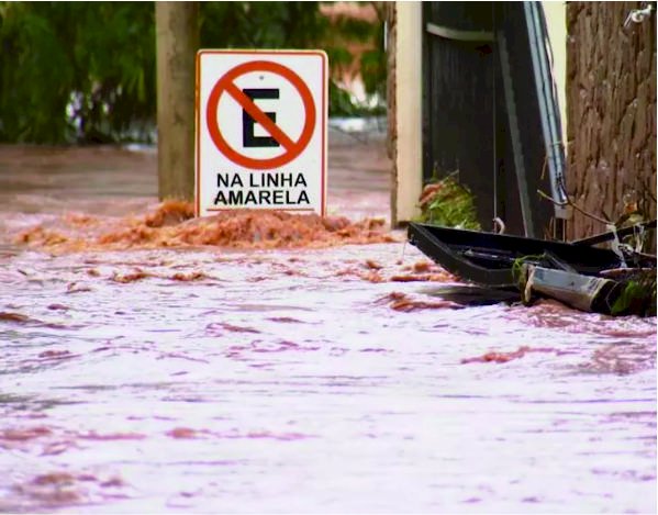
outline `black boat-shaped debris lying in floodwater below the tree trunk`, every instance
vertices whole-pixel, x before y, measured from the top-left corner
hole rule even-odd
[[[655,228],[655,220],[642,224],[642,229]],[[408,235],[423,254],[467,282],[521,290],[527,302],[534,293],[584,311],[614,313],[624,290],[620,278],[627,279],[629,273],[647,269],[655,278],[656,256],[627,247],[615,253],[592,245],[634,231],[637,226],[564,243],[410,223]],[[640,306],[639,312],[644,313],[642,310]]]

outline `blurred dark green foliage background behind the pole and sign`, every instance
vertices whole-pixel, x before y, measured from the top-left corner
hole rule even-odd
[[[202,48],[322,48],[330,115],[381,113],[383,7],[376,20],[326,16],[332,2],[201,2]],[[371,102],[341,77],[359,68]],[[153,2],[0,2],[0,142],[149,143],[156,119]]]

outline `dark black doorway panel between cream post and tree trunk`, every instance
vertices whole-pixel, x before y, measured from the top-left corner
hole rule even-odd
[[[549,237],[554,208],[537,194],[550,186],[525,23],[523,2],[423,2],[423,179],[458,170],[484,231],[498,216],[508,233],[524,235],[521,170],[531,233]]]

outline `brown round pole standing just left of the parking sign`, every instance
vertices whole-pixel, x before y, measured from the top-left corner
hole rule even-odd
[[[199,2],[156,2],[158,195],[194,198],[194,57]]]

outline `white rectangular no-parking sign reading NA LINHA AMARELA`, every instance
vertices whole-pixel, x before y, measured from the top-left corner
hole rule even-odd
[[[324,215],[327,80],[321,51],[199,51],[198,216],[235,209]]]

